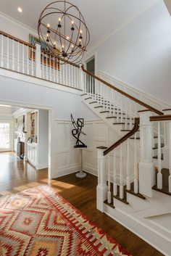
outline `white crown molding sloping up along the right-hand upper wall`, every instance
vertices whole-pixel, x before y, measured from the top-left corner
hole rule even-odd
[[[124,22],[122,25],[120,25],[117,29],[113,30],[112,33],[110,33],[108,36],[106,36],[105,38],[101,39],[97,44],[94,44],[93,46],[91,46],[88,51],[87,54],[89,54],[91,51],[94,51],[98,46],[100,46],[101,44],[103,44],[105,41],[107,41],[107,39],[109,39],[111,36],[114,36],[114,34],[116,34],[118,31],[122,30],[122,28],[125,28],[130,22],[132,22],[133,20],[137,19],[139,16],[141,16],[144,12],[146,12],[148,9],[150,9],[151,7],[153,7],[155,4],[157,4],[159,0],[151,0],[149,1],[148,4],[146,4],[145,7],[141,8],[138,10],[138,12],[135,13],[135,15],[133,15],[132,17],[130,17],[130,19],[128,19],[126,22]],[[86,55],[85,54],[85,57]]]

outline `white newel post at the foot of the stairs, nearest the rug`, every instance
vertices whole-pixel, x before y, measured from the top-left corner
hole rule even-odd
[[[101,212],[104,212],[104,201],[107,199],[107,173],[104,149],[107,149],[107,147],[97,147],[98,185],[96,187],[96,207]]]

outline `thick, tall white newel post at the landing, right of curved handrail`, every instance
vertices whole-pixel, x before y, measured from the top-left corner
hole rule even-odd
[[[152,186],[155,182],[153,162],[153,123],[150,118],[153,112],[140,112],[140,152],[141,162],[139,164],[139,191],[146,197],[153,197]]]

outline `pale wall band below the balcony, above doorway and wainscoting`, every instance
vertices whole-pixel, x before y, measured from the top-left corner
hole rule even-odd
[[[81,102],[81,97],[78,94],[71,94],[54,88],[46,88],[4,76],[0,76],[0,91],[0,101],[52,107],[54,108],[55,117],[58,119],[69,120],[71,113],[75,118],[97,118]]]

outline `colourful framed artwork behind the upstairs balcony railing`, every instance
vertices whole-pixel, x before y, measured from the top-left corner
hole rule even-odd
[[[46,44],[44,44],[43,42],[41,43],[38,37],[29,35],[29,43],[32,44],[33,46],[36,46],[36,44],[41,45],[41,52],[43,52],[43,54],[41,54],[41,64],[43,63],[43,65],[52,67],[55,70],[60,70],[59,59],[57,57],[51,56],[51,54],[49,53],[49,49],[47,49]],[[56,49],[56,50],[53,49],[53,51],[56,51],[56,53],[60,52],[59,49]],[[34,49],[31,49],[31,48],[29,49],[29,59],[33,59],[35,61]]]

